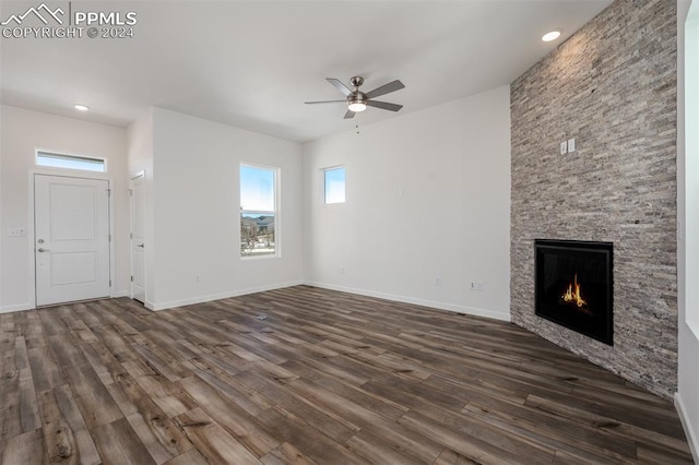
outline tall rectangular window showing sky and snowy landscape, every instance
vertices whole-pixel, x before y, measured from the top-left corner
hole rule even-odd
[[[240,257],[276,255],[274,168],[240,166]]]

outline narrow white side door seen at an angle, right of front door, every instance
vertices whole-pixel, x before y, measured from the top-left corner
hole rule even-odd
[[[131,298],[145,303],[145,196],[143,175],[131,179]]]

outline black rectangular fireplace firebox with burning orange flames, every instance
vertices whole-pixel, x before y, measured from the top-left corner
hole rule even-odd
[[[535,313],[614,345],[613,245],[534,241]]]

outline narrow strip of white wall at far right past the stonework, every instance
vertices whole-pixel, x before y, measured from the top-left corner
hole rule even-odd
[[[675,403],[699,463],[699,1],[677,2],[678,369]],[[685,19],[688,17],[685,29]],[[685,40],[686,39],[686,40]],[[686,60],[685,60],[686,58]]]

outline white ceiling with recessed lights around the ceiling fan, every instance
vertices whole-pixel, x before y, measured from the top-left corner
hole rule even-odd
[[[2,0],[0,19],[40,1]],[[133,11],[133,38],[2,38],[3,104],[122,127],[155,106],[305,142],[507,85],[611,0],[47,2]],[[404,108],[304,105],[355,74],[365,92],[400,79],[379,99]]]

